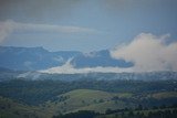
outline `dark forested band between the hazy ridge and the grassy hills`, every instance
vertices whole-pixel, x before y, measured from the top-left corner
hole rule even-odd
[[[176,81],[23,81],[12,79],[0,83],[0,96],[28,105],[39,105],[74,89],[94,89],[107,93],[134,93],[144,97],[147,94],[176,92]],[[146,97],[145,97],[146,98]],[[154,103],[155,100],[152,99]],[[159,99],[163,100],[163,99]],[[144,101],[146,104],[146,101]],[[156,103],[155,103],[156,104]]]

